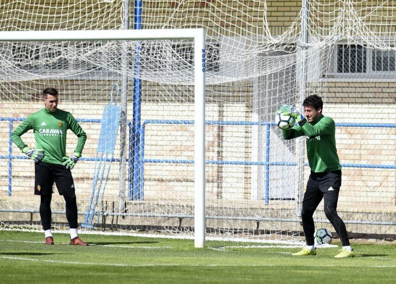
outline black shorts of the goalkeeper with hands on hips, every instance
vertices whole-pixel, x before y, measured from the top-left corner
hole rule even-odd
[[[60,195],[63,195],[63,192],[75,191],[71,171],[65,166],[41,161],[35,163],[34,169],[35,195],[52,194],[53,182]]]

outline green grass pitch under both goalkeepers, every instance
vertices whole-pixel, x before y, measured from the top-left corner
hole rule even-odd
[[[244,247],[235,242],[84,235],[90,246],[68,244],[68,234],[0,231],[0,283],[395,283],[396,245],[353,243],[292,256],[298,248]],[[340,245],[339,242],[335,244]],[[246,243],[244,244],[246,245]],[[257,244],[255,244],[257,246]]]

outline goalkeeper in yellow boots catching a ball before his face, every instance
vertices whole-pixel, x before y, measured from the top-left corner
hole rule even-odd
[[[343,248],[336,258],[353,256],[344,221],[337,214],[337,201],[341,187],[341,165],[337,155],[335,123],[322,114],[323,101],[320,96],[309,95],[303,103],[305,117],[290,105],[282,105],[279,112],[294,117],[297,125],[282,130],[285,140],[305,136],[311,173],[302,201],[302,228],[306,247],[293,255],[315,255],[313,213],[324,198],[324,211],[341,239]]]

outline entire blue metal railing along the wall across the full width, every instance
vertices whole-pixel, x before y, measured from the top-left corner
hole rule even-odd
[[[11,195],[11,180],[12,180],[12,160],[13,159],[28,159],[25,155],[12,155],[12,140],[11,134],[13,131],[14,121],[23,121],[25,118],[9,118],[0,117],[0,121],[9,122],[9,140],[8,140],[8,155],[0,155],[0,159],[8,160],[8,195]],[[101,119],[77,119],[78,122],[100,123]],[[128,121],[129,127],[129,153],[128,153],[128,200],[143,200],[144,197],[144,164],[145,163],[171,163],[171,164],[194,164],[194,160],[188,159],[145,159],[145,129],[148,124],[173,124],[173,125],[194,125],[193,120],[146,120],[140,128],[140,151],[138,161],[134,162],[136,157],[133,155],[133,127],[132,123]],[[270,127],[275,125],[274,122],[247,122],[247,121],[206,121],[206,125],[228,125],[228,126],[265,126],[265,157],[264,161],[218,161],[206,160],[206,164],[212,165],[261,165],[265,166],[265,203],[269,202],[269,168],[270,166],[297,166],[297,162],[270,162]],[[339,127],[373,127],[373,128],[396,128],[396,124],[376,124],[376,123],[336,123]],[[82,157],[81,160],[97,161],[98,158]],[[118,162],[119,159],[107,159],[107,161]],[[307,163],[305,164],[308,165]],[[341,164],[346,168],[378,168],[378,169],[396,169],[396,165],[374,165],[374,164]],[[135,176],[135,178],[133,178]]]

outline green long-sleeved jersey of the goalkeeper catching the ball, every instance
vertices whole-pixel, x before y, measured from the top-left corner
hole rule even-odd
[[[322,173],[341,169],[336,148],[336,125],[331,117],[322,116],[313,123],[282,130],[284,139],[305,135],[306,152],[312,172]]]

